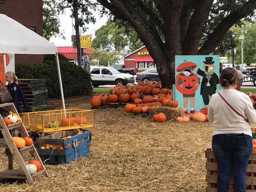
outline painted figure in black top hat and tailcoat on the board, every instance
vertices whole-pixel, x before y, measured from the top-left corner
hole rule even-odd
[[[197,74],[203,77],[200,94],[202,95],[206,108],[208,107],[210,97],[212,96],[212,94],[216,93],[217,86],[220,83],[218,75],[213,72],[216,67],[214,66],[214,61],[212,61],[212,59],[212,57],[206,57],[205,61],[203,61],[204,70],[197,70]]]

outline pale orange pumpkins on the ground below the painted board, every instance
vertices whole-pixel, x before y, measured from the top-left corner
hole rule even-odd
[[[208,121],[207,108],[202,108],[200,109],[199,112],[194,112],[192,114],[185,113],[183,117],[176,118],[176,121],[178,122],[189,122],[190,120],[193,120],[196,122],[207,122]]]

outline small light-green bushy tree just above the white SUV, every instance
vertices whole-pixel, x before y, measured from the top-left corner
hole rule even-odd
[[[101,66],[108,66],[108,64],[114,65],[120,61],[120,58],[116,54],[117,52],[115,51],[106,51],[102,49],[93,50],[92,53],[89,55],[90,64],[100,64]]]

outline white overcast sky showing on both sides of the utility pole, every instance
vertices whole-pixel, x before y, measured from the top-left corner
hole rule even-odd
[[[66,40],[59,38],[59,37],[52,37],[50,38],[50,42],[54,43],[56,46],[72,46],[72,41],[71,41],[71,35],[72,35],[72,18],[70,17],[71,15],[71,10],[70,8],[66,8],[65,9],[64,14],[61,14],[59,16],[60,19],[60,31],[64,31]],[[83,33],[80,33],[80,35],[86,35],[86,34],[92,34],[92,38],[95,38],[94,34],[95,31],[98,30],[102,25],[106,24],[107,22],[107,17],[104,16],[103,18],[100,18],[100,14],[99,12],[95,12],[94,16],[96,18],[96,23],[90,23],[88,26],[88,30]],[[73,23],[75,22],[74,18],[73,18]],[[74,35],[76,34],[75,30],[74,31]]]

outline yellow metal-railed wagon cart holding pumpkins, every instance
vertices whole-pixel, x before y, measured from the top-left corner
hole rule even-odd
[[[22,121],[30,132],[50,133],[93,127],[93,115],[93,110],[49,110],[22,113]]]

